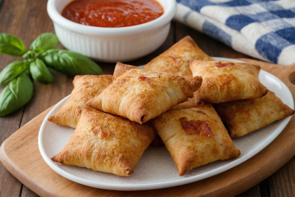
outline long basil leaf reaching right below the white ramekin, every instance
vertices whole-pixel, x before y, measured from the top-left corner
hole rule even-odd
[[[41,58],[47,66],[68,76],[103,74],[94,61],[73,51],[49,49],[41,54]]]

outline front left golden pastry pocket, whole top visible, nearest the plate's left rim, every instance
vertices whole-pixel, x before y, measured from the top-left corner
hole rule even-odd
[[[80,110],[77,128],[62,151],[51,159],[100,172],[132,175],[157,134],[154,127],[89,107]]]

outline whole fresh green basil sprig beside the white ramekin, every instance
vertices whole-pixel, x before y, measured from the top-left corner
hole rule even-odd
[[[0,116],[16,111],[29,102],[33,95],[30,79],[39,83],[53,82],[49,68],[68,76],[103,74],[101,68],[80,53],[55,49],[59,45],[53,33],[39,35],[27,51],[24,43],[14,35],[0,33],[0,53],[22,56],[24,61],[15,61],[0,72],[0,85],[9,84],[0,93]]]

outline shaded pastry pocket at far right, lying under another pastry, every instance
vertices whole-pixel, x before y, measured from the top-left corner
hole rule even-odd
[[[236,100],[214,104],[232,138],[241,137],[268,124],[294,114],[274,92],[258,99]]]

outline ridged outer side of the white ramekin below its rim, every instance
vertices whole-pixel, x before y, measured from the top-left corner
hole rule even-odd
[[[130,35],[83,35],[54,23],[55,33],[65,48],[105,61],[131,61],[159,48],[168,36],[170,22],[157,30]]]

